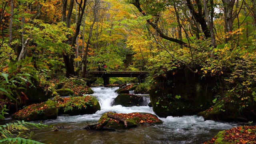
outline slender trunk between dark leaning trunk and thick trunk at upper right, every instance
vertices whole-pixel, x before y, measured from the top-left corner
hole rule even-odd
[[[211,34],[211,40],[212,40],[212,50],[215,48],[215,35],[214,35],[214,30],[212,27],[212,23],[210,20],[210,16],[208,13],[208,7],[207,7],[207,1],[203,0],[204,3],[204,13],[205,13],[205,18],[206,18],[206,22],[208,23],[209,29],[210,29],[210,34]],[[210,50],[210,57],[213,58],[214,57],[214,53],[212,52],[212,50]]]

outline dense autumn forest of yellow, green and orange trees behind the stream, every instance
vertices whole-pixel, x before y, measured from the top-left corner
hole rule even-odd
[[[86,70],[150,71],[148,80],[182,68],[212,90],[256,99],[255,0],[2,0],[1,106],[22,101],[28,82]],[[79,73],[83,71],[83,73]],[[220,81],[221,80],[221,81]],[[46,89],[50,90],[51,86]],[[15,96],[14,96],[15,95]],[[215,100],[216,101],[216,100]],[[242,107],[246,107],[246,102]]]

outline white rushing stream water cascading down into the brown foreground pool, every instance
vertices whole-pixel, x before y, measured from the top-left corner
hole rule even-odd
[[[117,88],[92,88],[95,92],[101,110],[95,114],[79,116],[58,116],[56,120],[46,120],[43,124],[64,126],[58,131],[53,128],[33,130],[33,140],[46,144],[202,144],[210,140],[220,130],[239,126],[238,123],[204,121],[199,116],[182,116],[160,118],[163,124],[154,126],[139,126],[137,128],[109,131],[89,131],[83,129],[87,123],[95,123],[105,112],[131,113],[148,112],[155,114],[148,106],[111,106],[117,96]],[[145,99],[148,100],[148,99]]]

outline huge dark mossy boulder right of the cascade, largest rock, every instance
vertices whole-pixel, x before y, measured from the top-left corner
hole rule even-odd
[[[216,83],[183,69],[156,76],[149,89],[152,108],[160,117],[195,115],[213,105]]]

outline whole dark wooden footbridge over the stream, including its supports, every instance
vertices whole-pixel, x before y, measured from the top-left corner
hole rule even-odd
[[[147,71],[87,71],[86,74],[92,74],[96,77],[103,78],[104,85],[109,84],[109,78],[111,77],[132,77],[138,78],[139,82],[141,82],[146,75],[149,74]]]

